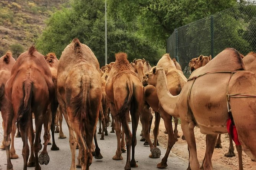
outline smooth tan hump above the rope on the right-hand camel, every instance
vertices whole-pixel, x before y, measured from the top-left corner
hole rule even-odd
[[[207,72],[245,70],[245,64],[238,51],[233,48],[226,48],[204,67],[196,69],[190,77],[194,77]]]

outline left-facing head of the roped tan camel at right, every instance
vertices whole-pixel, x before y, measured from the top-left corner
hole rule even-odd
[[[159,74],[164,73],[167,74],[168,72],[168,68],[164,69],[164,68],[157,68],[152,67],[152,69],[150,70],[150,72],[148,72],[147,74],[144,75],[143,79],[142,79],[142,84],[144,87],[146,87],[147,85],[153,85],[154,87],[157,85],[157,77]]]

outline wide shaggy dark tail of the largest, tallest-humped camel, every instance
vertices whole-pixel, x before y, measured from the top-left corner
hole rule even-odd
[[[85,129],[86,122],[90,120],[90,99],[89,99],[89,90],[90,90],[90,80],[86,79],[86,76],[83,75],[81,78],[81,89],[77,96],[70,100],[70,106],[74,109],[74,117],[77,117],[80,120],[80,129]]]

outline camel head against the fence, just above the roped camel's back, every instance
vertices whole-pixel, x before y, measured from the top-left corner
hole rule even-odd
[[[188,64],[188,66],[190,67],[190,71],[193,72],[199,67],[205,66],[205,64],[209,63],[211,59],[212,59],[211,55],[209,57],[200,55],[197,58],[191,59]]]

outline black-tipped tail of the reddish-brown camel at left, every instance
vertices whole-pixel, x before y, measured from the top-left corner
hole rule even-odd
[[[28,121],[28,117],[32,115],[31,112],[31,100],[33,96],[33,83],[29,81],[23,82],[23,99],[21,101],[20,108],[17,114],[17,126],[25,125]]]

